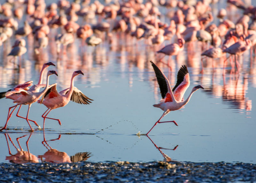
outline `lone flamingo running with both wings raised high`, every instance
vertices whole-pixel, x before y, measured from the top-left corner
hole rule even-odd
[[[171,85],[164,75],[164,73],[156,66],[156,64],[152,61],[151,65],[155,71],[156,79],[160,88],[160,92],[162,95],[162,99],[160,103],[153,105],[154,107],[158,107],[164,111],[162,116],[158,121],[156,121],[155,125],[148,131],[148,133],[157,125],[157,123],[166,123],[166,122],[173,122],[176,126],[178,124],[175,121],[163,121],[160,120],[168,114],[170,111],[176,111],[181,109],[185,106],[188,101],[190,100],[192,94],[198,90],[199,88],[204,89],[201,85],[195,86],[192,91],[190,92],[188,98],[186,100],[182,100],[185,91],[189,86],[189,74],[186,65],[181,66],[180,70],[177,74],[177,82],[173,89],[171,89]],[[148,133],[146,135],[148,135]]]

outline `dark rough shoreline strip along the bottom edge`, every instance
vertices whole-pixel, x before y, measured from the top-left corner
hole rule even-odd
[[[2,163],[0,182],[256,182],[256,164]]]

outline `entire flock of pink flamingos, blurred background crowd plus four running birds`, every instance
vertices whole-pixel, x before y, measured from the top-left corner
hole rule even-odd
[[[20,69],[22,67],[21,58],[17,59],[17,57],[21,57],[27,52],[26,39],[29,37],[33,37],[35,41],[34,54],[40,55],[48,47],[48,43],[52,41],[51,31],[57,30],[54,42],[59,58],[61,52],[63,55],[67,53],[67,47],[74,44],[76,38],[81,40],[80,48],[82,50],[85,43],[88,46],[97,46],[105,41],[111,44],[114,41],[114,33],[120,33],[136,39],[137,42],[144,40],[146,45],[153,46],[154,54],[159,55],[156,62],[163,62],[172,70],[171,57],[179,55],[186,44],[197,41],[203,43],[202,56],[216,59],[225,57],[226,53],[230,54],[232,70],[236,69],[236,74],[239,75],[241,67],[237,56],[243,55],[247,50],[251,50],[252,55],[253,47],[256,44],[254,21],[256,19],[256,7],[248,5],[248,3],[245,4],[241,0],[227,0],[233,9],[239,9],[243,15],[237,18],[236,22],[232,22],[226,18],[227,11],[220,9],[216,16],[218,24],[214,24],[213,21],[216,22],[216,20],[214,20],[211,5],[215,3],[218,3],[218,0],[148,0],[146,2],[141,0],[106,0],[105,4],[97,0],[94,2],[59,0],[57,4],[51,3],[46,6],[44,0],[7,0],[0,6],[0,45],[4,46],[5,42],[15,38],[8,56],[13,57],[13,61],[10,60],[9,62],[18,65],[18,69]],[[161,13],[163,7],[170,10],[165,15]],[[168,20],[163,20],[166,17]],[[85,20],[85,24],[81,23],[81,18]],[[25,19],[23,26],[18,23],[21,22],[21,19]],[[174,42],[163,46],[166,41]],[[136,46],[138,46],[137,42]],[[167,63],[163,61],[165,55],[169,56]],[[232,59],[232,57],[234,58]],[[226,68],[227,59],[223,61],[223,72]],[[162,96],[160,103],[154,107],[162,109],[164,113],[148,133],[157,123],[173,122],[178,126],[175,121],[162,122],[160,120],[170,111],[179,110],[185,106],[196,90],[204,89],[201,85],[195,86],[188,98],[184,100],[184,93],[190,84],[187,66],[183,65],[178,71],[177,82],[172,89],[164,73],[154,62],[150,61],[150,63],[155,71]],[[60,125],[59,119],[47,117],[52,109],[66,106],[70,100],[79,104],[91,103],[92,99],[74,86],[74,78],[79,74],[84,75],[81,70],[73,72],[69,88],[58,92],[57,84],[49,84],[51,75],[58,76],[56,71],[49,70],[46,84],[42,84],[44,70],[49,66],[55,65],[52,62],[43,65],[37,84],[33,85],[32,81],[28,81],[0,93],[1,98],[12,99],[15,103],[9,108],[6,123],[0,131],[6,129],[12,113],[18,106],[16,116],[26,119],[33,131],[29,121],[35,123],[36,126],[38,124],[36,121],[28,119],[28,114],[31,105],[35,102],[47,107],[42,115],[44,123],[45,119],[52,119],[58,121]],[[40,91],[40,89],[42,90]],[[26,117],[19,115],[22,105],[28,105]]]

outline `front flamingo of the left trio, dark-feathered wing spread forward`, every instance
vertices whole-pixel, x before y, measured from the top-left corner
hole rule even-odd
[[[76,102],[78,104],[90,104],[92,99],[86,97],[82,91],[78,90],[76,87],[74,87],[74,78],[78,75],[84,73],[81,70],[74,71],[71,77],[70,87],[62,90],[60,92],[57,91],[56,86],[57,84],[53,84],[51,88],[43,95],[41,100],[38,100],[38,103],[43,103],[48,109],[43,113],[42,117],[52,120],[56,120],[61,125],[61,122],[59,119],[49,118],[46,117],[52,109],[56,109],[59,107],[66,106],[69,102],[69,100],[72,100],[73,102]],[[49,110],[49,111],[48,111]],[[43,126],[44,129],[44,126]]]

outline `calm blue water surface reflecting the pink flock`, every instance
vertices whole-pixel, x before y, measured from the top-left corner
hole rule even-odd
[[[52,30],[50,37],[56,33]],[[37,157],[55,149],[55,157],[59,158],[54,157],[55,161],[60,162],[69,161],[77,152],[88,152],[91,153],[88,161],[93,162],[148,162],[163,160],[165,154],[177,161],[256,163],[256,64],[255,57],[250,60],[249,52],[239,59],[240,75],[230,74],[229,61],[223,75],[224,58],[214,61],[214,70],[212,60],[204,59],[202,74],[200,42],[186,43],[184,51],[172,57],[172,71],[165,64],[158,64],[172,87],[180,66],[188,65],[190,86],[185,98],[195,85],[201,84],[204,90],[196,91],[184,108],[163,118],[175,120],[178,127],[172,123],[158,124],[148,138],[136,134],[147,133],[162,115],[160,109],[152,106],[161,95],[149,60],[156,62],[159,55],[155,51],[170,41],[154,48],[144,40],[114,33],[112,43],[105,41],[95,48],[81,47],[81,40],[76,40],[68,47],[67,54],[58,58],[53,41],[37,57],[33,55],[33,40],[26,40],[28,52],[22,57],[20,71],[13,69],[6,58],[14,38],[0,48],[0,91],[29,80],[36,83],[42,64],[51,61],[57,67],[48,69],[56,70],[59,77],[52,76],[50,83],[57,82],[58,91],[69,87],[74,70],[83,70],[84,76],[76,77],[75,86],[94,101],[90,105],[70,102],[53,110],[49,117],[60,119],[62,126],[46,120],[43,131],[31,123],[37,129],[33,133],[28,132],[26,120],[13,115],[7,126],[10,129],[0,133],[0,162],[9,162],[6,157],[17,159],[17,149],[21,150],[18,154],[24,156],[28,154],[25,151],[29,151],[36,162],[41,162]],[[188,53],[188,48],[194,49]],[[163,61],[167,60],[168,57],[164,57]],[[12,100],[1,99],[0,126],[4,126],[10,106],[13,106]],[[26,115],[27,108],[21,108],[22,116]],[[32,104],[29,118],[42,127],[41,115],[45,110],[44,105]],[[165,149],[159,150],[156,146]],[[11,154],[14,156],[10,157]]]

